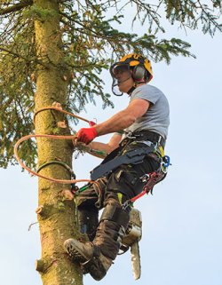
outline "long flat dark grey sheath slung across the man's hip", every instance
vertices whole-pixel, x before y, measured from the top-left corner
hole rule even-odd
[[[143,162],[145,155],[150,154],[154,151],[155,146],[140,147],[132,149],[121,156],[117,156],[106,163],[101,163],[99,164],[99,166],[91,170],[91,180],[96,180],[104,176],[105,174],[107,174],[111,170],[114,170],[116,167],[122,164],[137,164],[139,162]]]

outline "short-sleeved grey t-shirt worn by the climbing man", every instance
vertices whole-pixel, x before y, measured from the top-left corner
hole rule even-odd
[[[167,139],[170,125],[170,107],[163,92],[155,86],[144,84],[132,91],[131,101],[134,99],[145,99],[151,104],[147,113],[124,131],[155,131],[163,139]]]

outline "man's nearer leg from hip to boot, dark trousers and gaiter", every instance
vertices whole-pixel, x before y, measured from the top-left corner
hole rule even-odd
[[[127,228],[130,213],[124,202],[139,194],[144,186],[140,179],[159,167],[159,163],[146,157],[136,165],[123,165],[109,175],[105,193],[105,209],[100,218],[95,239],[80,242],[69,239],[64,246],[70,257],[82,263],[95,280],[101,280],[112,265]]]

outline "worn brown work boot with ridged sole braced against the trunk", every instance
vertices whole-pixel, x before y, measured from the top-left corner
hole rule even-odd
[[[113,263],[112,259],[102,255],[99,248],[92,242],[68,239],[64,242],[64,248],[72,261],[80,263],[83,273],[91,273],[91,277],[96,281],[106,275],[108,268]]]

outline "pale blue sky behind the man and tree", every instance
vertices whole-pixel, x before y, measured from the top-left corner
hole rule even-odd
[[[174,57],[170,65],[154,63],[151,84],[170,102],[170,130],[166,154],[171,163],[167,178],[154,195],[135,203],[142,213],[143,237],[139,242],[142,273],[134,281],[131,255],[115,259],[102,281],[84,277],[85,285],[221,285],[222,193],[220,182],[222,36],[171,28],[192,44],[197,59]],[[106,76],[109,76],[108,74]],[[111,81],[107,79],[108,91]],[[98,122],[126,107],[129,98],[115,98],[115,109],[90,107],[87,114]],[[107,141],[104,136],[98,141]],[[87,161],[87,163],[85,163]],[[88,178],[99,159],[78,158],[77,178]],[[75,162],[74,162],[75,170]],[[35,260],[40,258],[36,222],[37,178],[19,166],[0,169],[0,271],[2,285],[40,285]]]

